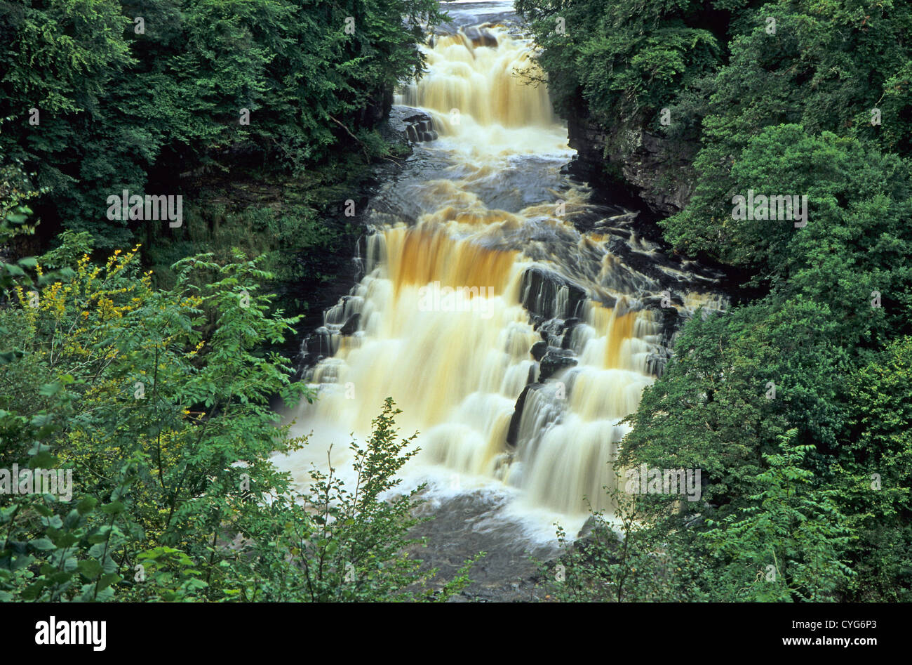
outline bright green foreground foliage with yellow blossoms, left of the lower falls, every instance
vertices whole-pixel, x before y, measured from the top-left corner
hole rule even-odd
[[[65,232],[37,274],[88,242]],[[176,265],[173,290],[151,287],[135,249],[103,266],[82,254],[71,279],[14,286],[0,311],[19,351],[0,364],[0,467],[72,480],[67,491],[62,480],[6,488],[0,598],[434,599],[461,588],[464,571],[424,589],[433,571],[405,554],[420,488],[389,499],[415,454],[391,401],[367,443],[352,444],[354,486],[315,470],[302,493],[275,469],[275,452],[306,441],[278,427],[270,397],[306,392],[259,349],[294,320],[269,313],[255,262],[209,259]]]

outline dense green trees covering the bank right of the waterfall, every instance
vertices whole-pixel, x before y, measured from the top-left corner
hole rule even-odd
[[[559,111],[699,147],[688,205],[659,225],[751,287],[740,306],[686,324],[629,417],[625,464],[703,479],[701,501],[636,496],[640,554],[689,569],[666,575],[669,597],[912,599],[912,8],[517,5]],[[806,225],[735,215],[749,190],[806,196]],[[629,579],[617,592],[637,566],[603,541],[568,554],[567,579],[656,597]]]

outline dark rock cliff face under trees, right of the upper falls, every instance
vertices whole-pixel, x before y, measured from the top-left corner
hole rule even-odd
[[[595,183],[624,185],[656,216],[674,215],[690,197],[695,142],[671,141],[618,119],[606,129],[583,112],[567,118],[575,170]]]

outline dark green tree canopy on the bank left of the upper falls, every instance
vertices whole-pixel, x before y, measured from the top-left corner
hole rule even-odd
[[[48,187],[46,214],[99,248],[134,241],[109,195],[181,194],[181,173],[305,169],[422,67],[432,0],[0,2],[0,153]],[[375,113],[376,116],[376,113]],[[367,148],[365,148],[367,149]]]

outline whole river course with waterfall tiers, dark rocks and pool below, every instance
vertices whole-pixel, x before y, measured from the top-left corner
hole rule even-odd
[[[725,299],[719,274],[568,174],[510,3],[443,5],[426,74],[396,98],[412,153],[362,215],[363,277],[305,343],[318,396],[285,416],[309,443],[276,462],[302,486],[327,459],[345,477],[350,437],[391,396],[400,433],[419,433],[404,483],[428,484],[434,516],[418,556],[445,578],[484,550],[475,597],[520,598],[554,523],[573,536],[590,506],[610,514],[622,419],[681,322]]]

